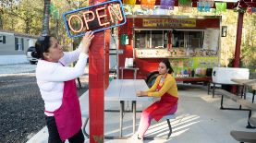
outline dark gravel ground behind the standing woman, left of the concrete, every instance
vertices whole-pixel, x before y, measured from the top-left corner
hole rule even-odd
[[[45,125],[34,69],[29,64],[0,66],[0,143],[26,142]],[[79,95],[88,89],[88,76],[80,81]]]

